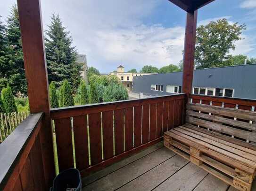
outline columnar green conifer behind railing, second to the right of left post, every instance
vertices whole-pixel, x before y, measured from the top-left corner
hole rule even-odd
[[[71,85],[67,80],[64,80],[62,86],[62,107],[74,106]]]

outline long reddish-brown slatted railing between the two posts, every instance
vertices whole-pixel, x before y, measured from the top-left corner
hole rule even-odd
[[[155,144],[182,124],[184,103],[177,94],[51,109],[59,171],[75,165],[85,176]]]

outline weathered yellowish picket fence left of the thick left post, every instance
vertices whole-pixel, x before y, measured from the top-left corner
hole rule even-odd
[[[29,115],[29,111],[26,112],[12,112],[0,114],[0,143],[4,141],[14,131],[17,126],[25,120]]]

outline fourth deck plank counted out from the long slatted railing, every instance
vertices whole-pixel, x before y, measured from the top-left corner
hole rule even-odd
[[[207,175],[205,170],[190,162],[154,191],[192,191]]]

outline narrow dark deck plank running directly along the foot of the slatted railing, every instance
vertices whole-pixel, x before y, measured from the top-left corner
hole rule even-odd
[[[119,162],[116,162],[115,164],[107,167],[107,168],[104,168],[102,170],[99,170],[89,176],[86,176],[83,178],[82,180],[82,184],[83,184],[83,187],[104,177],[104,176],[107,176],[108,174],[118,170],[119,168],[122,168],[132,162],[134,162],[135,160],[138,160],[160,148],[162,148],[164,145],[163,145],[163,142],[160,142],[160,143],[157,143],[156,145],[152,145],[150,146],[149,148],[141,151],[140,153],[137,153],[137,154],[134,154],[132,155],[131,157],[127,158],[127,159],[124,159],[124,160],[121,160]]]

